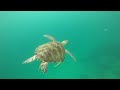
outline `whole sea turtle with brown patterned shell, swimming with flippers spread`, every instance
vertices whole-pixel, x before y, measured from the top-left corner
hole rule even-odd
[[[69,54],[75,61],[75,57],[64,48],[64,45],[68,43],[68,40],[62,42],[56,41],[56,39],[50,35],[43,35],[44,37],[51,40],[51,42],[40,45],[35,50],[35,55],[25,60],[23,64],[30,63],[34,60],[41,60],[39,68],[43,73],[47,72],[48,62],[58,62],[56,66],[64,61],[65,53]],[[55,66],[55,67],[56,67]]]

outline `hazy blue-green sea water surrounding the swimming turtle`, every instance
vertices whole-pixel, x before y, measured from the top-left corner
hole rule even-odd
[[[50,63],[44,75],[40,61],[22,62],[37,46],[50,40],[69,40],[68,54],[58,67]],[[1,11],[0,79],[120,78],[119,11]]]

